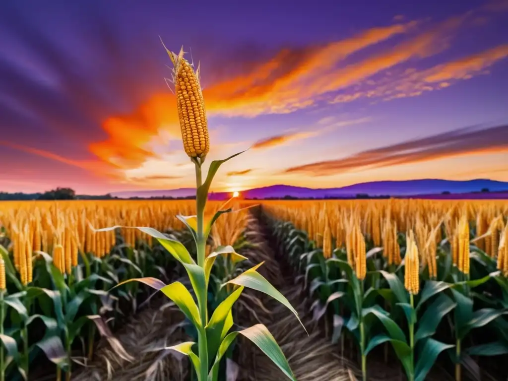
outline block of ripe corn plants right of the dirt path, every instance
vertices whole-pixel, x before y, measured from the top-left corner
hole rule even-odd
[[[342,355],[357,343],[364,380],[372,351],[393,354],[417,381],[440,354],[457,381],[464,368],[481,379],[482,357],[508,354],[507,210],[505,201],[264,203],[278,249],[315,298],[315,321]]]

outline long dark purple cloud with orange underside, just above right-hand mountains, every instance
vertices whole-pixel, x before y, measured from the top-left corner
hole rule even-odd
[[[338,160],[292,167],[284,172],[327,176],[481,152],[508,152],[508,125],[483,130],[463,128],[363,151]]]

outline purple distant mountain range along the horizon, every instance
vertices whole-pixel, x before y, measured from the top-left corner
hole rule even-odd
[[[410,196],[431,196],[433,198],[448,198],[447,194],[476,194],[483,192],[485,197],[495,198],[495,195],[487,196],[487,193],[508,192],[508,182],[495,181],[488,179],[475,180],[440,180],[440,179],[421,179],[406,181],[373,181],[360,184],[348,185],[339,188],[306,188],[291,185],[271,185],[261,188],[253,188],[243,190],[241,192],[243,198],[248,199],[267,199],[267,198],[283,198],[285,196],[294,198],[356,198],[359,195],[370,197],[392,196],[392,197],[410,197]],[[139,190],[133,192],[116,192],[111,196],[118,198],[151,198],[151,197],[190,197],[195,195],[195,188],[179,188],[168,190]],[[442,195],[443,192],[445,195]],[[505,192],[503,192],[505,193]],[[437,195],[442,195],[437,197]],[[505,193],[501,198],[505,198]],[[463,195],[465,196],[465,195]],[[491,197],[494,196],[494,197]],[[223,200],[231,197],[230,193],[214,193],[210,194],[212,200]],[[475,197],[478,198],[478,197]]]

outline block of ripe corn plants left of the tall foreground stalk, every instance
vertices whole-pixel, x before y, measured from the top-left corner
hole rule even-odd
[[[118,356],[131,360],[111,330],[138,308],[150,289],[131,283],[109,290],[132,277],[171,279],[181,272],[149,235],[133,229],[96,232],[92,226],[148,222],[185,242],[188,238],[179,232],[183,224],[174,214],[188,210],[189,203],[84,204],[1,205],[2,381],[28,379],[41,368],[44,356],[56,365],[57,380],[71,379],[73,364],[92,359],[99,334]]]

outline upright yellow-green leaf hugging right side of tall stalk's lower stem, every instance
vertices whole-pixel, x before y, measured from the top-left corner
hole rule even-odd
[[[208,344],[208,358],[213,360],[215,355],[217,354],[218,348],[222,339],[224,338],[223,334],[225,329],[227,331],[231,328],[228,327],[228,323],[233,323],[233,315],[231,314],[231,310],[233,308],[233,304],[238,300],[240,294],[242,293],[244,287],[239,287],[233,293],[231,293],[226,299],[224,299],[213,311],[212,317],[206,326],[206,337]],[[231,321],[228,321],[228,317],[231,316]],[[227,333],[226,331],[226,333]]]

